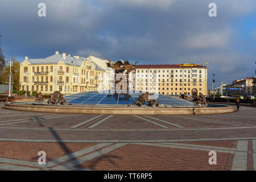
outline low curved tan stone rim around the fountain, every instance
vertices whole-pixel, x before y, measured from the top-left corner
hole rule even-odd
[[[100,107],[100,106],[45,106],[5,103],[6,109],[66,114],[117,114],[117,115],[192,115],[234,112],[233,106],[220,107]]]

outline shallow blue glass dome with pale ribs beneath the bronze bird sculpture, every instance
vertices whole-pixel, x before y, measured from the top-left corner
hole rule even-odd
[[[129,91],[127,94],[118,94],[113,93],[110,90],[104,90],[100,92],[81,92],[65,96],[64,98],[67,102],[75,105],[124,106],[134,104],[134,101],[138,100],[138,97],[141,94],[141,91]],[[158,100],[159,104],[167,105],[169,107],[195,106],[193,102],[162,94],[155,94],[155,100]]]

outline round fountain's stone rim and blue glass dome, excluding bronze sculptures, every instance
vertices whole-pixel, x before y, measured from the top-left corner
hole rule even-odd
[[[209,104],[207,107],[196,106],[194,102],[159,94],[156,100],[165,107],[129,107],[141,93],[131,92],[113,94],[104,92],[85,92],[65,96],[72,105],[40,105],[33,102],[6,102],[6,109],[36,111],[44,113],[70,114],[123,114],[123,115],[188,115],[232,113],[230,105]]]

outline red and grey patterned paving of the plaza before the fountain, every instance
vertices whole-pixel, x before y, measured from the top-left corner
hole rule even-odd
[[[212,115],[35,113],[0,104],[1,170],[254,170],[256,110]],[[46,164],[39,165],[39,151]],[[217,164],[209,164],[215,151]]]

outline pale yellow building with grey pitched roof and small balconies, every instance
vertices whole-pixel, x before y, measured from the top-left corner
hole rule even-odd
[[[99,90],[104,88],[104,74],[104,69],[85,57],[60,55],[59,51],[44,59],[26,56],[20,64],[20,89],[43,94],[60,91],[65,95]]]

